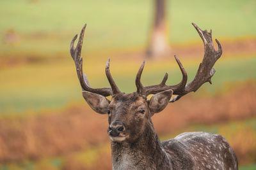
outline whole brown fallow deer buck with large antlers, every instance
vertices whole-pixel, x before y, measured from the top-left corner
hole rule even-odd
[[[193,24],[193,23],[192,23]],[[214,63],[221,56],[214,50],[212,33],[202,31],[193,24],[204,42],[204,59],[200,63],[195,78],[187,84],[188,76],[180,60],[175,56],[182,73],[177,85],[166,85],[168,74],[158,85],[143,87],[140,78],[145,62],[136,76],[137,91],[131,94],[120,92],[109,72],[109,60],[106,76],[111,87],[93,89],[83,73],[81,48],[86,25],[84,25],[76,48],[70,44],[70,53],[76,64],[76,71],[83,97],[89,106],[100,114],[108,114],[108,136],[111,139],[113,169],[237,169],[237,158],[223,136],[208,132],[184,132],[174,139],[160,141],[152,124],[154,113],[162,111],[168,103],[195,92],[205,82],[211,83],[215,70]],[[153,94],[150,100],[147,96]],[[172,94],[177,95],[173,97]],[[106,97],[111,96],[111,101]]]

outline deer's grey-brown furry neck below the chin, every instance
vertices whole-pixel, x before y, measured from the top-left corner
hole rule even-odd
[[[134,143],[111,141],[112,169],[172,169],[153,124]]]

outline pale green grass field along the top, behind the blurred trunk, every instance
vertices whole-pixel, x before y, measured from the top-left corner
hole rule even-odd
[[[0,54],[42,56],[68,55],[72,37],[83,24],[86,31],[87,52],[100,50],[129,50],[147,45],[152,23],[151,1],[1,1],[0,39],[8,30],[20,37],[10,45],[0,41]],[[213,36],[222,39],[256,36],[256,2],[228,0],[205,3],[196,1],[168,1],[170,42],[200,41],[191,25],[212,29]],[[46,57],[46,56],[44,56]]]

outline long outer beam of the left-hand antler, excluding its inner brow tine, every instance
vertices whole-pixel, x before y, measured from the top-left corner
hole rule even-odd
[[[83,29],[80,33],[80,37],[79,37],[76,48],[74,47],[74,43],[77,39],[77,34],[76,34],[76,36],[74,36],[74,38],[72,39],[72,41],[70,43],[70,54],[76,64],[77,77],[80,81],[82,90],[100,94],[102,96],[111,96],[112,90],[109,87],[101,88],[101,89],[92,89],[89,85],[89,81],[88,81],[86,74],[83,73],[83,58],[81,57],[81,49],[82,49],[82,45],[83,45],[85,28],[86,28],[86,24],[84,24]]]

